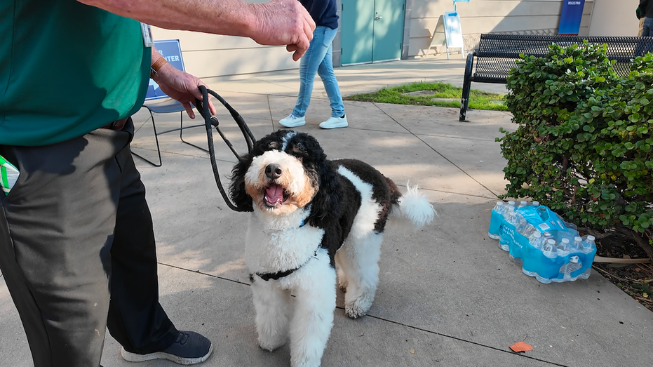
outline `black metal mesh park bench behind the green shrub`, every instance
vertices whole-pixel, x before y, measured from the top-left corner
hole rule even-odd
[[[619,76],[628,76],[631,60],[635,56],[653,51],[653,37],[481,34],[478,48],[467,55],[459,121],[467,121],[472,81],[506,84],[506,77],[517,66],[516,60],[520,58],[520,53],[541,57],[548,53],[550,44],[565,46],[582,44],[584,40],[589,44],[607,44],[607,58],[617,61],[614,72]]]

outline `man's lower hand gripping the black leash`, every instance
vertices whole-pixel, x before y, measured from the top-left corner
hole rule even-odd
[[[187,72],[175,69],[175,67],[170,64],[165,64],[161,69],[159,69],[154,81],[159,84],[159,88],[161,88],[163,93],[166,93],[174,100],[182,102],[184,109],[186,109],[186,112],[191,119],[195,118],[195,112],[193,111],[191,103],[195,103],[195,98],[203,102],[202,93],[198,89],[198,86],[206,86],[203,81]],[[211,114],[215,114],[215,107],[213,106],[213,101],[211,100],[210,95],[208,98],[208,108],[210,109]]]

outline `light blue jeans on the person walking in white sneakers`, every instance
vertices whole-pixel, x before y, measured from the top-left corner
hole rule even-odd
[[[299,95],[297,95],[295,108],[292,109],[292,114],[297,117],[304,116],[309,108],[316,73],[322,78],[324,89],[329,96],[331,116],[340,117],[344,115],[340,88],[333,73],[332,41],[337,31],[337,28],[331,29],[321,25],[315,27],[311,46],[309,46],[299,63]]]

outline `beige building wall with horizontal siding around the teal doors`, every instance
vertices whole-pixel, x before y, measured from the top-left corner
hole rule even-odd
[[[260,3],[267,0],[246,1]],[[338,0],[338,4],[341,1]],[[586,0],[580,34],[590,34],[591,29],[592,35],[635,35],[637,20],[634,9],[637,6],[631,3],[636,2],[638,0]],[[465,48],[471,50],[475,47],[482,33],[557,34],[562,3],[563,0],[471,0],[457,3]],[[597,11],[593,18],[594,7]],[[338,9],[340,12],[340,6]],[[445,11],[453,11],[451,0],[406,0],[403,59],[446,51],[443,46],[429,48],[438,18]],[[614,17],[614,14],[619,15]],[[299,62],[292,61],[285,46],[261,46],[243,37],[156,27],[152,32],[154,39],[179,39],[187,71],[201,78],[299,67]],[[340,65],[340,40],[338,32],[333,42],[335,66]]]

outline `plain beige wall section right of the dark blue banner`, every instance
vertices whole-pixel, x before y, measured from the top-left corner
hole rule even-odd
[[[640,0],[594,0],[590,36],[637,36]]]

